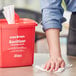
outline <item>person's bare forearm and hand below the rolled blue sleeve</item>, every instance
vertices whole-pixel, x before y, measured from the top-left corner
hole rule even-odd
[[[48,29],[45,31],[49,51],[50,51],[50,59],[46,62],[44,69],[57,71],[59,68],[65,67],[65,62],[61,56],[60,49],[60,30],[59,29]]]

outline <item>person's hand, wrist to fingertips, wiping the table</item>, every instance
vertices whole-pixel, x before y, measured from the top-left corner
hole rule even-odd
[[[65,67],[65,62],[62,57],[51,57],[48,62],[45,64],[44,69],[49,71],[57,71],[59,68]]]

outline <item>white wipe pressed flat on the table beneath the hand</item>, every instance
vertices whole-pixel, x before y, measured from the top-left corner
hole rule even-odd
[[[53,71],[53,72],[63,72],[64,70],[66,70],[70,67],[72,67],[72,64],[67,64],[65,66],[65,68],[59,68],[57,71]],[[50,72],[50,71],[47,71],[46,69],[44,69],[43,66],[36,65],[35,68],[40,70],[40,71],[43,71],[43,72]]]

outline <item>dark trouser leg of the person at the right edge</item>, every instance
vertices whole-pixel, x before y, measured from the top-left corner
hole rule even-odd
[[[76,13],[72,13],[67,39],[67,55],[76,56]]]

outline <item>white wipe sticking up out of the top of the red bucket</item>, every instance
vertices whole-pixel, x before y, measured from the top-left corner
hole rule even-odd
[[[3,7],[3,14],[8,22],[8,24],[15,23],[14,5],[9,5]]]

